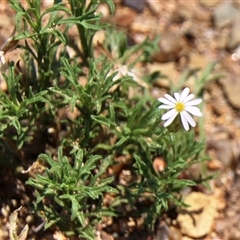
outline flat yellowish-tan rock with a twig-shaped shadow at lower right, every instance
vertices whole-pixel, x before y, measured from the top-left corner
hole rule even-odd
[[[185,197],[184,202],[189,207],[180,210],[177,217],[182,234],[198,239],[204,237],[213,226],[218,204],[216,198],[192,192]]]

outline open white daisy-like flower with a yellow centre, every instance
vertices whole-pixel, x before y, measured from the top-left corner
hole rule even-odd
[[[192,100],[194,94],[189,94],[189,92],[189,88],[184,88],[181,93],[174,93],[174,97],[165,94],[165,98],[158,99],[158,101],[163,103],[159,108],[169,110],[162,116],[162,120],[165,121],[164,127],[169,126],[179,114],[182,125],[186,131],[190,129],[189,125],[192,127],[196,126],[196,122],[190,114],[197,117],[202,116],[200,109],[195,107],[195,105],[202,102],[202,99]]]

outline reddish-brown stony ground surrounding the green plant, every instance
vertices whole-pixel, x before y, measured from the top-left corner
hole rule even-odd
[[[155,239],[240,239],[240,4],[220,0],[134,2],[137,1],[118,2],[114,16],[108,14],[105,6],[101,11],[105,21],[127,32],[132,42],[161,35],[161,51],[153,56],[153,64],[147,66],[146,71],[160,70],[177,84],[184,69],[203,69],[211,61],[218,61],[214,78],[204,87],[204,131],[208,154],[212,157],[208,171],[218,171],[219,175],[210,181],[211,189],[202,189],[198,195],[187,194],[193,217],[189,220],[188,214],[180,211],[174,221],[165,219],[160,223]],[[6,1],[1,1],[0,14],[2,43],[14,28],[13,13]],[[8,55],[10,59],[14,56],[15,51]],[[190,79],[185,85],[193,89],[194,81]],[[161,96],[160,88],[167,91],[169,83],[157,81],[152,90],[154,97]],[[11,176],[1,180],[0,239],[8,239],[8,215],[19,205],[14,200],[4,201],[8,195],[9,199],[14,199],[10,191],[14,188],[17,188],[13,192],[20,203],[29,201],[21,180],[12,180]],[[34,222],[24,209],[22,218]],[[35,221],[33,228],[40,223]],[[56,233],[32,235],[31,239],[65,239]],[[101,239],[111,239],[111,236],[102,235]],[[136,234],[125,239],[149,238]]]

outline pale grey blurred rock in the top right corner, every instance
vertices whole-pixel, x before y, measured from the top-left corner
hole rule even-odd
[[[219,4],[214,9],[214,12],[213,12],[215,26],[217,28],[223,28],[226,25],[231,24],[233,19],[238,14],[239,14],[239,11],[235,8],[235,6],[231,2],[223,2]]]

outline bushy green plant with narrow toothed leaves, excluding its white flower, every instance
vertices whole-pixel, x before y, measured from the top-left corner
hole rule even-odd
[[[55,1],[45,10],[40,0],[26,0],[25,7],[9,2],[18,23],[14,41],[20,41],[24,54],[4,74],[8,92],[0,92],[1,146],[5,157],[25,167],[36,161],[46,167],[26,182],[36,197],[33,211],[45,229],[58,226],[81,239],[94,239],[97,223],[121,215],[144,217],[153,231],[163,212],[184,204],[181,190],[202,181],[201,176],[181,177],[206,160],[200,157],[204,143],[195,140],[193,130],[185,131],[195,121],[182,114],[200,116],[188,105],[201,100],[191,102],[185,88],[181,96],[174,94],[176,100],[160,98],[165,104],[160,106],[150,84],[134,71],[150,60],[156,43],[147,39],[129,47],[123,33],[101,22],[99,1]],[[104,3],[114,11],[111,0]],[[75,40],[69,33],[74,28]],[[114,37],[95,49],[98,30]],[[159,108],[172,109],[171,114]],[[178,112],[185,130],[165,128]],[[159,156],[165,165],[156,171],[153,161]],[[129,181],[120,181],[112,171],[116,165],[130,172]],[[107,195],[112,200],[105,203]]]

